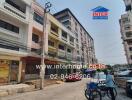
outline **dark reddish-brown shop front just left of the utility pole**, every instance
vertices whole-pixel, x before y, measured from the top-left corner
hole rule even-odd
[[[22,81],[39,79],[41,58],[22,58]]]

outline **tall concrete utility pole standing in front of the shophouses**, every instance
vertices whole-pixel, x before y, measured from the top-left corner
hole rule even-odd
[[[52,4],[50,2],[45,3],[44,15],[43,15],[43,36],[42,36],[42,50],[41,50],[41,69],[40,69],[40,89],[43,89],[45,78],[45,41],[46,41],[46,25],[47,25],[47,13],[50,12]]]

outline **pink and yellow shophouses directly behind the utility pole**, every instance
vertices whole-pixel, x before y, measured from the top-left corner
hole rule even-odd
[[[75,43],[74,34],[62,25],[54,16],[47,13],[44,16],[44,8],[36,2],[32,3],[32,13],[30,13],[29,31],[28,31],[28,47],[31,49],[32,55],[24,57],[25,62],[25,79],[38,77],[39,70],[35,65],[41,63],[41,47],[42,36],[45,34],[45,65],[51,65],[47,68],[45,76],[50,74],[61,74],[63,72],[71,73],[72,70],[63,70],[55,68],[55,65],[65,65],[68,63],[75,64],[73,60]],[[45,20],[46,19],[46,20]],[[46,21],[46,33],[43,33],[43,22]],[[34,56],[33,56],[34,55]],[[52,66],[53,65],[53,66]]]

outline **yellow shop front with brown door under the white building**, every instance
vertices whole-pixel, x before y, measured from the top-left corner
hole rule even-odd
[[[19,60],[0,59],[0,84],[17,83]]]

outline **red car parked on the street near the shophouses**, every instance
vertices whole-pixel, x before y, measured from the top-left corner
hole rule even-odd
[[[65,77],[65,81],[80,81],[81,80],[81,75],[79,73],[72,73],[69,74],[67,77]]]

